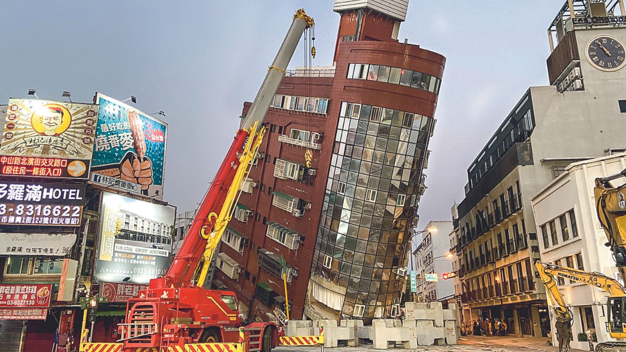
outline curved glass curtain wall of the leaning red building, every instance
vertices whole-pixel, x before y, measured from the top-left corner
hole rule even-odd
[[[341,103],[314,269],[347,287],[345,317],[399,313],[398,267],[406,260],[433,127],[428,116]]]

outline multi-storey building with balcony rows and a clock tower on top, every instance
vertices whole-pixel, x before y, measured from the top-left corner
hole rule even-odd
[[[505,319],[515,336],[550,330],[532,265],[541,239],[531,197],[570,163],[626,146],[626,28],[618,11],[614,1],[560,8],[548,31],[551,85],[528,88],[468,168],[459,204],[462,299],[471,318]],[[610,63],[598,58],[605,40],[615,53]]]

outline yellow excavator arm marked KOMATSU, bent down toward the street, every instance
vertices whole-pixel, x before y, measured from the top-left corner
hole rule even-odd
[[[600,274],[599,272],[587,272],[541,261],[536,261],[535,267],[537,268],[537,272],[539,272],[541,282],[543,282],[543,285],[546,287],[546,293],[555,303],[557,321],[572,321],[572,314],[565,304],[563,294],[558,291],[558,277],[598,287],[608,292],[610,296],[626,296],[626,289],[624,289],[620,282],[604,274]]]

